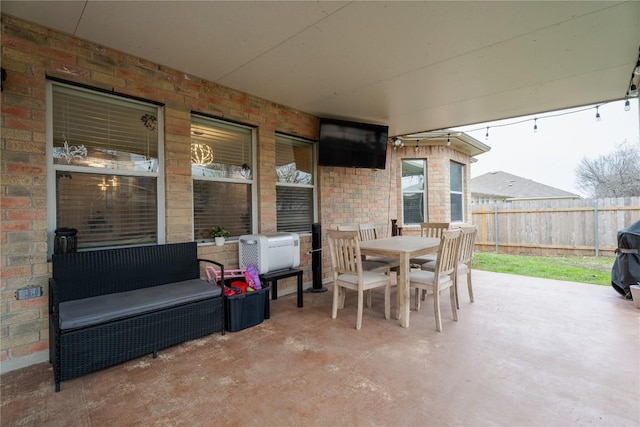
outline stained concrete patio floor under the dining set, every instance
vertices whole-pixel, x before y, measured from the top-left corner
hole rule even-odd
[[[331,288],[331,286],[329,286]],[[395,293],[395,290],[394,290]],[[3,426],[638,426],[640,310],[611,287],[474,271],[459,321],[431,296],[408,329],[382,292],[271,304],[271,319],[62,383],[1,377]],[[443,294],[444,295],[444,294]],[[393,297],[393,295],[392,295]],[[392,313],[394,310],[392,310]]]

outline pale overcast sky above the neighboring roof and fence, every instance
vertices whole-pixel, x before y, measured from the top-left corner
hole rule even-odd
[[[638,98],[629,101],[629,111],[624,111],[624,100],[596,104],[599,121],[596,105],[587,105],[456,128],[491,147],[476,156],[471,178],[504,171],[586,197],[575,184],[575,171],[584,157],[611,154],[625,142],[640,150]]]

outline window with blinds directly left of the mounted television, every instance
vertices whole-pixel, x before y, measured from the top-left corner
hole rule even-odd
[[[314,218],[313,144],[276,134],[276,213],[278,231],[310,233]]]

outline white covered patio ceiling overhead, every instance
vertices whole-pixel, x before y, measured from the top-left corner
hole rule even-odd
[[[390,135],[624,97],[640,2],[5,1],[3,13]]]

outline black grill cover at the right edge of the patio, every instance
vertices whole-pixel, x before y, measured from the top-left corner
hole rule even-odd
[[[631,299],[629,286],[640,282],[640,221],[618,231],[616,260],[611,269],[611,286]]]

